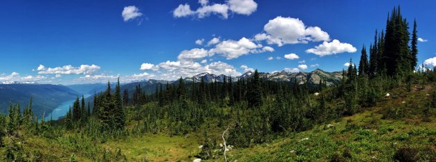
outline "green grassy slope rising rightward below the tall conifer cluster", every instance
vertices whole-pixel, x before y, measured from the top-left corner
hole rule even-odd
[[[417,108],[431,94],[430,86],[425,90],[396,89],[393,98],[383,99],[375,108],[318,125],[311,130],[292,134],[269,144],[254,148],[230,151],[230,159],[238,161],[327,161],[335,153],[343,154],[349,150],[350,161],[392,161],[394,152],[408,146],[421,150],[421,154],[436,151],[436,118],[430,122],[421,121],[416,115],[405,119],[381,119],[381,111],[390,106]],[[396,98],[396,99],[394,99]],[[404,102],[403,102],[404,101]],[[434,110],[433,110],[434,111]],[[427,152],[426,152],[427,151]],[[426,153],[424,153],[426,152]],[[280,160],[279,160],[280,159]]]

